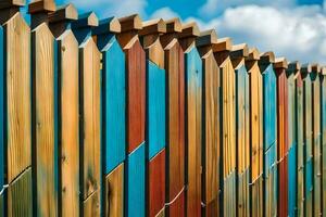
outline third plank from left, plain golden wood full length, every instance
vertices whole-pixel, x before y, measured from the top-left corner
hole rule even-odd
[[[71,30],[58,38],[60,202],[62,216],[79,215],[78,42]]]

